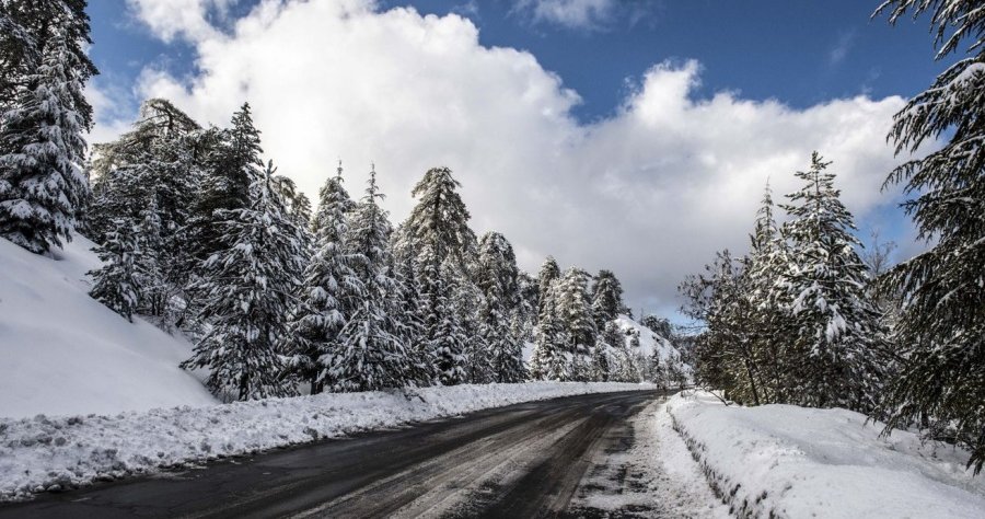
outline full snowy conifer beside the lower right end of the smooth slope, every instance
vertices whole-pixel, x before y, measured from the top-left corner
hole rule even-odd
[[[303,238],[274,191],[273,168],[250,168],[247,207],[217,209],[219,243],[190,290],[200,304],[205,333],[184,368],[208,368],[216,394],[236,400],[289,394],[278,353],[288,332]]]

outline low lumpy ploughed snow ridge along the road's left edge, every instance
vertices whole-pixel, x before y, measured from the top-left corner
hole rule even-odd
[[[521,402],[652,389],[603,382],[455,385],[116,416],[0,418],[0,500]]]

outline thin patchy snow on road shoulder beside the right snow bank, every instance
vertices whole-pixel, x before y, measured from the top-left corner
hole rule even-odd
[[[577,496],[576,507],[614,517],[730,517],[728,506],[711,492],[684,440],[671,427],[665,401],[636,414],[629,428],[633,443],[628,448],[606,450],[604,459],[593,460],[595,466],[582,481],[590,492]]]

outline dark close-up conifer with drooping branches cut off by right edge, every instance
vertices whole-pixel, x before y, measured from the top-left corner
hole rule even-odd
[[[906,301],[896,333],[906,364],[887,399],[887,434],[923,422],[929,436],[967,447],[977,473],[985,465],[985,16],[977,0],[889,0],[883,10],[891,23],[930,13],[938,59],[971,44],[895,115],[890,134],[897,153],[948,141],[888,181],[915,197],[904,207],[919,235],[937,243],[885,276],[887,289]]]

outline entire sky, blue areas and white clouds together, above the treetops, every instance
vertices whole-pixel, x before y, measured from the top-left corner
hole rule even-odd
[[[375,161],[399,220],[448,164],[521,266],[613,268],[635,308],[673,312],[676,282],[741,251],[766,178],[781,198],[813,149],[864,238],[918,250],[899,189],[879,191],[902,160],[885,132],[947,64],[927,20],[871,20],[878,1],[91,3],[94,138],[149,95],[213,124],[248,100],[311,195],[324,164],[354,164],[358,189]]]

